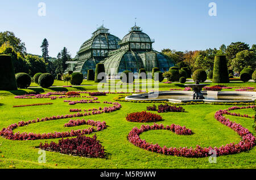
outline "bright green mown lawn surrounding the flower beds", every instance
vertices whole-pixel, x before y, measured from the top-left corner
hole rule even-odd
[[[55,85],[62,82],[55,82]],[[89,84],[89,82],[86,82]],[[212,83],[211,83],[212,84]],[[31,84],[32,85],[32,84]],[[160,90],[165,91],[170,88],[184,88],[183,84],[160,84]],[[251,86],[256,87],[255,83],[229,83],[228,86]],[[63,102],[64,99],[50,100],[42,99],[15,99],[15,95],[21,95],[24,92],[50,92],[50,91],[96,91],[97,84],[76,88],[29,88],[19,89],[18,91],[0,91],[0,128],[9,126],[11,123],[19,121],[28,121],[35,118],[49,117],[52,115],[73,114],[69,113],[71,108],[89,109],[108,106],[106,104],[76,104],[68,105]],[[98,96],[99,101],[114,101],[117,94],[107,96]],[[80,100],[81,98],[69,98],[68,100]],[[26,105],[35,103],[52,102],[52,105],[30,106],[22,108],[13,108],[13,105]],[[38,163],[38,149],[40,142],[51,142],[52,140],[33,140],[33,141],[12,141],[0,138],[0,168],[9,168],[13,165],[15,168],[256,168],[256,148],[249,152],[242,152],[236,155],[217,157],[217,164],[210,164],[208,158],[185,158],[160,155],[154,152],[148,152],[135,147],[127,140],[127,135],[135,126],[152,125],[153,123],[133,123],[127,122],[125,115],[132,112],[146,110],[146,106],[152,104],[141,104],[132,102],[120,102],[122,108],[109,114],[98,114],[85,119],[97,121],[106,121],[107,128],[96,132],[98,139],[104,145],[108,158],[84,158],[68,155],[60,155],[55,152],[46,152],[46,164]],[[232,105],[185,105],[185,113],[160,113],[164,121],[164,126],[175,123],[176,125],[190,128],[194,134],[191,136],[176,135],[171,131],[147,131],[141,134],[141,139],[150,143],[158,143],[167,147],[203,147],[225,145],[228,143],[238,143],[241,137],[230,128],[222,125],[214,118],[214,113],[219,109],[228,109]],[[254,115],[252,109],[234,110],[233,112]],[[227,115],[232,121],[241,123],[243,127],[248,128],[254,135],[252,128],[252,118],[241,118]],[[80,118],[80,119],[82,119]],[[55,121],[39,122],[32,125],[15,129],[14,132],[54,132],[77,130],[87,125],[77,127],[64,127],[68,119]],[[72,118],[78,119],[78,118]],[[92,136],[93,134],[89,135]],[[58,139],[53,139],[57,142]],[[2,157],[3,156],[3,157]],[[57,166],[56,166],[57,164]]]

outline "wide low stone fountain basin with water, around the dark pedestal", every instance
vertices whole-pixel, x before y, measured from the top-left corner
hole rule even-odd
[[[204,99],[193,100],[192,91],[161,91],[139,93],[127,96],[128,101],[169,101],[169,102],[254,102],[256,92],[201,91]]]

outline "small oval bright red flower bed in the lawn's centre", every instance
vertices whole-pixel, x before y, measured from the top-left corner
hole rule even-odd
[[[162,121],[162,117],[158,114],[148,112],[137,112],[127,114],[126,120],[130,122],[156,122]]]

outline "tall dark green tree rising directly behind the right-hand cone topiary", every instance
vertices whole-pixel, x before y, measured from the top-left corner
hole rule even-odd
[[[245,42],[232,42],[226,48],[226,57],[228,58],[228,66],[230,66],[232,59],[236,58],[236,54],[243,50],[249,50],[250,46]]]

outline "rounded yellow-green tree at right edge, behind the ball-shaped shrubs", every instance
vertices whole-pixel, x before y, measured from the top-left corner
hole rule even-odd
[[[234,71],[241,72],[244,68],[250,67],[255,69],[256,67],[256,54],[249,50],[243,50],[236,54],[236,58],[232,59],[231,66]]]

